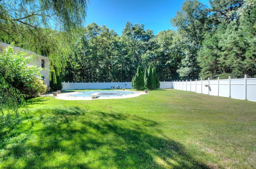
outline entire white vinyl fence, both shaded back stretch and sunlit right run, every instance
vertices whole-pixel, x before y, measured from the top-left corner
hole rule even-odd
[[[81,90],[81,89],[116,89],[132,88],[131,82],[97,82],[97,83],[76,83],[63,82],[62,90]],[[209,94],[212,96],[223,96],[256,102],[256,78],[243,79],[217,79],[217,80],[196,80],[196,81],[163,81],[160,88],[174,88],[196,93]]]

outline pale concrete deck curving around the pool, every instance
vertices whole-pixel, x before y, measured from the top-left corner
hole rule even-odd
[[[129,91],[129,90],[125,90]],[[63,92],[60,94],[57,94],[57,96],[54,96],[54,98],[62,99],[62,100],[98,100],[98,99],[120,99],[120,98],[132,98],[137,97],[142,94],[148,94],[145,92],[138,92],[138,91],[129,91],[134,92],[132,94],[124,94],[122,96],[108,96],[108,97],[97,97],[97,98],[91,98],[91,97],[78,97],[78,96],[71,96],[71,94],[79,94],[80,92]],[[52,93],[46,93],[41,96],[53,96]]]

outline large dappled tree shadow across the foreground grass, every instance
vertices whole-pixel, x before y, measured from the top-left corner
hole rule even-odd
[[[78,107],[41,111],[52,114],[33,117],[8,137],[1,133],[0,167],[19,162],[20,168],[208,168],[161,135],[157,122]]]

